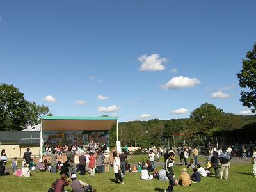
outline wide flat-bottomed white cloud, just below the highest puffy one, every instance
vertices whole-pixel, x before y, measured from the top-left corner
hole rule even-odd
[[[200,81],[196,78],[189,78],[189,77],[173,77],[168,81],[166,84],[162,85],[161,87],[164,90],[172,90],[172,89],[179,89],[179,88],[188,88],[188,87],[194,87],[195,84],[200,83]]]

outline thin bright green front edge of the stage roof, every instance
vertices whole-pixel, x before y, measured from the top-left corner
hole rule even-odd
[[[44,120],[117,120],[116,117],[42,116]]]

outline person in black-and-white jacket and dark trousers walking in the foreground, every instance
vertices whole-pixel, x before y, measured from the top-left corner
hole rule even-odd
[[[173,192],[173,186],[175,186],[175,180],[173,179],[174,176],[174,153],[170,152],[169,157],[165,162],[164,169],[166,170],[166,176],[169,179],[169,186],[164,192]]]

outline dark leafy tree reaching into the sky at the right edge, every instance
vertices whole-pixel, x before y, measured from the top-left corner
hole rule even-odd
[[[248,92],[242,91],[239,99],[243,106],[253,108],[252,113],[256,112],[256,43],[252,51],[248,51],[246,59],[243,60],[242,70],[237,74],[239,85],[248,88]]]

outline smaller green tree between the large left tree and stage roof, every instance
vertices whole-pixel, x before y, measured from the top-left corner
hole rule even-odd
[[[41,122],[41,116],[45,116],[49,113],[49,108],[47,106],[37,105],[35,102],[29,102],[29,120],[28,125],[38,125]],[[49,113],[49,115],[52,115]],[[49,116],[47,115],[47,116]]]

